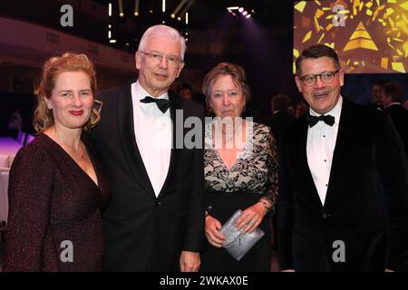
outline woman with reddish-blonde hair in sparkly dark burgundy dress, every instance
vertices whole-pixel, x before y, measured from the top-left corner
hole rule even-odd
[[[101,118],[84,54],[44,63],[34,112],[38,137],[10,170],[4,271],[101,271],[109,190],[86,138]]]

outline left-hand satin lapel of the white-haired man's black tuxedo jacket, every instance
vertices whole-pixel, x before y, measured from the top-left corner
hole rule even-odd
[[[151,180],[144,167],[134,135],[133,104],[131,102],[131,83],[124,86],[118,100],[118,123],[120,128],[121,144],[126,159],[130,162],[130,167],[135,178],[141,184],[141,187],[149,192],[153,197],[154,189],[151,186]]]

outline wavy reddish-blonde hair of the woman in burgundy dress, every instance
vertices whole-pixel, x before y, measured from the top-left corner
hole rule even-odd
[[[96,95],[96,72],[93,63],[85,54],[63,53],[62,56],[56,56],[48,59],[44,63],[43,77],[40,82],[37,96],[37,107],[34,111],[33,126],[37,133],[42,133],[53,126],[53,111],[48,109],[45,98],[50,99],[55,87],[55,81],[58,75],[65,72],[83,72],[86,73],[91,82],[91,90],[96,106],[92,107],[91,117],[84,125],[85,131],[90,131],[101,120],[102,102],[95,99]]]

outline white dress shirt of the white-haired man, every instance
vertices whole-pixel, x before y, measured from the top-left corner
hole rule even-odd
[[[157,197],[169,171],[172,126],[170,109],[163,113],[155,102],[140,102],[147,96],[151,95],[141,87],[139,82],[131,84],[134,135]],[[167,92],[163,93],[159,99],[169,100],[169,95]]]

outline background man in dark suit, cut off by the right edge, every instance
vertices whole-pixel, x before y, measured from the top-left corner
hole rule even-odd
[[[381,101],[384,103],[384,111],[393,119],[393,124],[403,140],[405,154],[408,155],[408,111],[403,108],[401,85],[396,82],[385,83]]]

